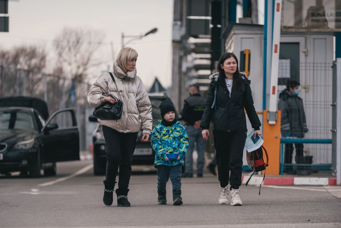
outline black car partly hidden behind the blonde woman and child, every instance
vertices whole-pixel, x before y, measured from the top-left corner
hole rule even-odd
[[[164,93],[148,94],[152,105],[153,127],[157,125],[161,118],[159,105],[163,100],[170,98]],[[177,114],[176,114],[177,116]],[[89,121],[97,122],[97,118],[89,116]],[[133,165],[153,165],[155,152],[151,147],[150,140],[148,142],[141,141],[142,132],[138,132],[136,147],[133,154]],[[95,175],[104,175],[106,169],[105,141],[102,131],[102,125],[98,124],[92,135],[93,143],[93,172]]]

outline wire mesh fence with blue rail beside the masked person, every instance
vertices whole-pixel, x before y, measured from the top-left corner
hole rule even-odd
[[[332,162],[332,63],[300,63],[299,75],[295,78],[300,83],[299,97],[302,98],[306,122],[309,131],[304,138],[281,138],[281,164],[280,171],[288,167],[321,171],[329,170]],[[283,69],[282,69],[283,70]],[[284,69],[285,70],[285,69]],[[290,71],[288,69],[287,71]],[[286,86],[279,86],[279,92]],[[288,106],[287,109],[297,110],[297,107]],[[300,113],[291,118],[299,118]],[[283,123],[282,123],[283,124]],[[293,153],[292,163],[285,163],[284,144],[303,144],[304,158],[296,157],[296,148]],[[309,171],[308,170],[308,171]],[[306,172],[307,173],[307,172]],[[309,172],[308,172],[309,173]],[[307,174],[308,174],[307,173]]]

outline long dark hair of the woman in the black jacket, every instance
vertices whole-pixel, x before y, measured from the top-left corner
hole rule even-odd
[[[221,68],[220,65],[224,66],[225,60],[231,57],[233,57],[237,62],[237,69],[236,69],[236,72],[234,72],[233,74],[233,84],[232,84],[232,92],[236,94],[238,91],[242,91],[242,92],[244,91],[244,83],[240,77],[239,68],[238,68],[238,59],[236,55],[233,54],[232,52],[225,52],[222,56],[220,56],[220,59],[217,65],[217,71],[219,71],[219,74],[225,79],[225,71],[224,69]]]

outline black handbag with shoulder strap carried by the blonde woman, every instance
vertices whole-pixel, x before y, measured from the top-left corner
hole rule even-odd
[[[116,91],[118,95],[118,100],[115,103],[110,103],[109,101],[106,101],[102,103],[100,106],[95,108],[93,110],[93,116],[98,118],[98,119],[120,119],[122,116],[122,111],[123,111],[123,102],[120,96],[120,93],[117,88],[116,81],[114,79],[114,76],[111,72],[108,72],[114,81],[114,84],[116,86]]]

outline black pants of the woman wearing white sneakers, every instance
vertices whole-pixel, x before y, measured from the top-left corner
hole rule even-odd
[[[239,189],[241,185],[246,131],[247,129],[232,132],[213,130],[214,147],[217,151],[218,180],[222,188],[228,183],[231,185],[230,189]]]

